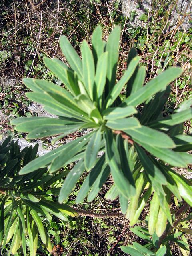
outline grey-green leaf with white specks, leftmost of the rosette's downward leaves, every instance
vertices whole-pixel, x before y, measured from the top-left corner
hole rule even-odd
[[[61,204],[66,197],[71,193],[72,189],[76,185],[78,179],[82,175],[82,173],[85,170],[84,162],[83,160],[80,160],[74,168],[69,172],[66,179],[64,180],[64,183],[60,189],[59,193],[59,199],[58,202]]]

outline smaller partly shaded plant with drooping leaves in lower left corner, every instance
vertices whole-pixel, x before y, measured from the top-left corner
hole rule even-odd
[[[47,174],[47,168],[38,168],[35,172],[19,176],[22,166],[36,158],[38,144],[20,151],[18,143],[10,140],[11,136],[0,145],[1,255],[7,250],[6,255],[15,255],[21,245],[22,255],[27,255],[26,244],[30,256],[36,255],[38,234],[44,247],[52,252],[52,244],[44,227],[47,221],[51,222],[51,214],[64,221],[68,221],[67,215],[78,216],[67,204],[58,204],[49,197],[58,194],[59,189],[50,190],[48,187],[65,177],[68,171],[51,175]]]

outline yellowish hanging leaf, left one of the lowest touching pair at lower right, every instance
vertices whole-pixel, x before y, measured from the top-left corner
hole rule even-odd
[[[149,210],[148,228],[149,228],[150,235],[152,235],[155,232],[156,223],[158,221],[158,212],[159,212],[159,200],[158,200],[157,192],[155,191],[150,203],[150,210]]]

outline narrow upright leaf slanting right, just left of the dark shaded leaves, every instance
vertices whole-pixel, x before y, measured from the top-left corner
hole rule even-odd
[[[118,83],[110,90],[105,103],[105,108],[108,108],[112,105],[112,103],[116,100],[116,98],[119,96],[122,88],[126,84],[126,82],[130,79],[132,74],[134,73],[134,70],[136,69],[136,66],[138,65],[138,62],[140,60],[140,57],[135,57],[131,60],[130,64],[128,65],[126,71],[124,72],[122,78],[118,81]]]

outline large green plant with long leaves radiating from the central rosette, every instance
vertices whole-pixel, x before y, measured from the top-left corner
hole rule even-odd
[[[119,42],[119,27],[114,28],[107,42],[102,41],[102,30],[97,27],[92,35],[92,51],[84,40],[80,59],[68,39],[62,36],[60,47],[70,68],[57,59],[44,58],[44,62],[66,89],[46,80],[24,78],[24,84],[34,91],[26,93],[28,98],[58,118],[17,118],[12,120],[16,130],[27,132],[28,139],[60,134],[53,143],[76,130],[93,130],[31,161],[20,174],[47,166],[53,174],[79,160],[68,173],[58,199],[62,203],[87,170],[76,197],[77,204],[87,194],[88,202],[94,200],[111,174],[114,184],[106,198],[119,197],[121,211],[130,225],[136,224],[153,195],[149,234],[156,232],[161,237],[167,221],[174,226],[174,214],[170,211],[173,196],[192,206],[191,182],[172,169],[187,168],[192,162],[192,156],[187,153],[192,149],[192,137],[182,135],[183,122],[192,118],[192,100],[182,103],[174,114],[163,117],[170,95],[169,84],[182,70],[169,68],[143,86],[146,68],[139,66],[140,58],[133,48],[128,55],[127,69],[116,83]],[[125,84],[126,95],[121,95]],[[98,158],[99,151],[104,154]]]

